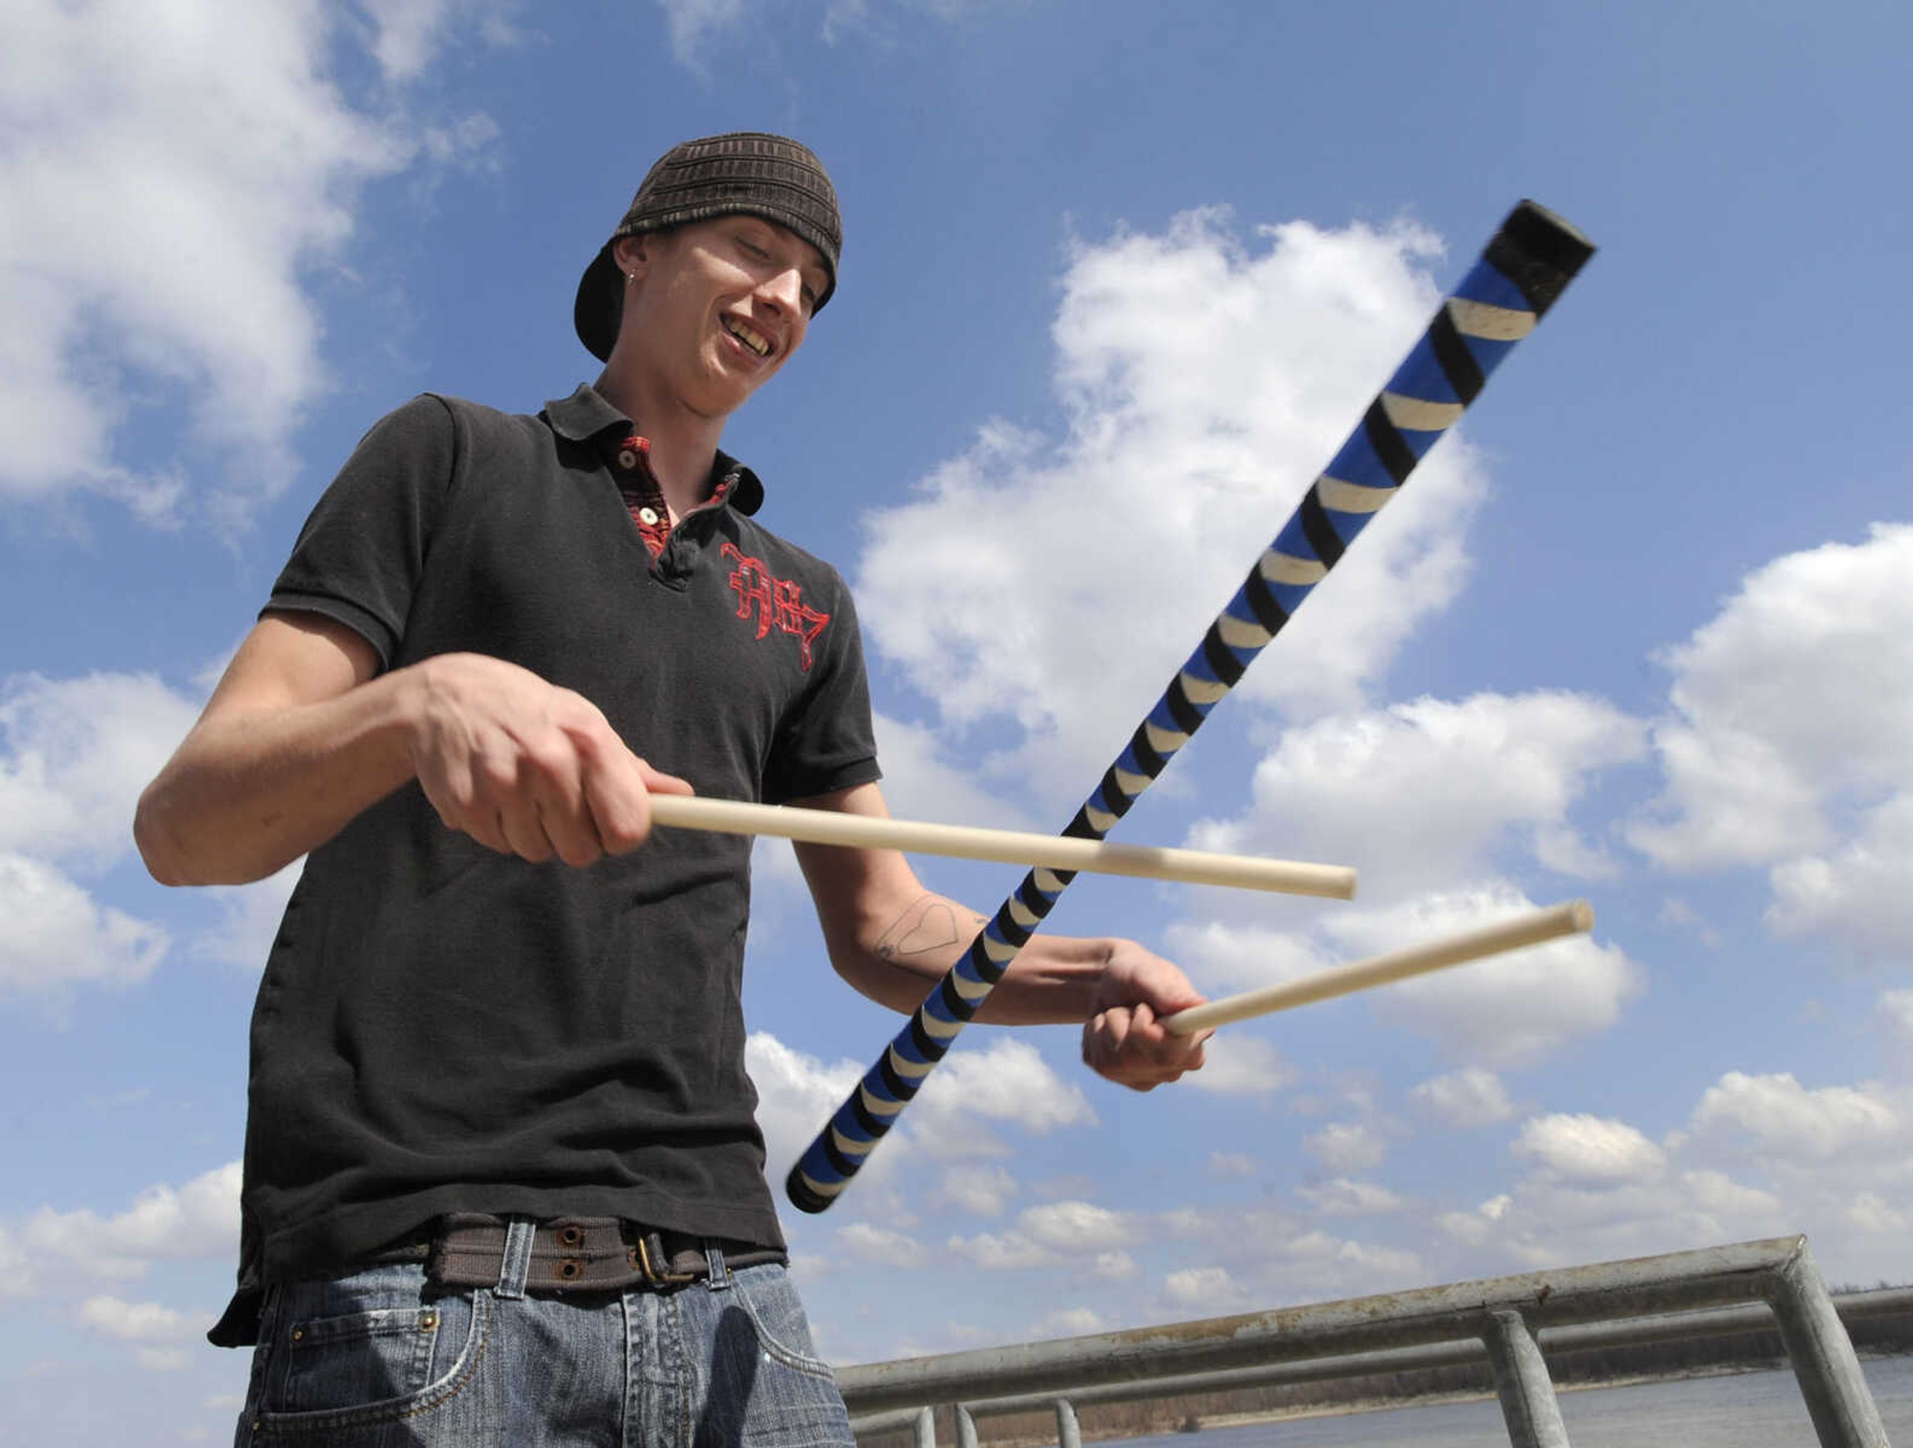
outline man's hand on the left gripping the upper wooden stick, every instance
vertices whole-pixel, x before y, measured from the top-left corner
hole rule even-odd
[[[650,836],[650,792],[691,794],[597,704],[484,654],[411,666],[411,761],[446,828],[501,855],[591,865]]]

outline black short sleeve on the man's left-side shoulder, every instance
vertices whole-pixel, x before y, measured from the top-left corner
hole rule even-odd
[[[337,620],[390,668],[455,467],[442,398],[423,394],[379,419],[312,509],[262,612]]]

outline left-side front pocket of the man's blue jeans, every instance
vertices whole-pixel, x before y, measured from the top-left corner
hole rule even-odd
[[[455,1396],[484,1347],[490,1295],[427,1293],[417,1268],[373,1268],[295,1283],[275,1306],[258,1417],[342,1429]]]

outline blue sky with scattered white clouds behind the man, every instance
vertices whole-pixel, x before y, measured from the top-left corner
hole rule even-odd
[[[771,128],[842,285],[727,434],[851,578],[897,813],[1054,830],[1528,195],[1601,252],[1079,882],[1211,993],[1586,895],[1592,941],[1240,1025],[1132,1096],[976,1031],[786,1213],[828,1356],[1804,1230],[1913,1272],[1903,10],[4,0],[0,1440],[218,1440],[287,880],[165,891],[143,780],[365,427],[593,375],[671,142]],[[991,909],[1016,872],[922,861]],[[759,845],[773,1173],[891,1018]],[[956,1270],[953,1270],[956,1268]],[[99,1393],[96,1370],[113,1371]]]

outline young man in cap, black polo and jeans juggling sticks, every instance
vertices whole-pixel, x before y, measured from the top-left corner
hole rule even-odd
[[[147,788],[166,884],[308,855],[260,981],[239,1442],[847,1442],[784,1280],[738,1008],[750,844],[649,796],[884,813],[851,599],[752,515],[725,419],[836,287],[817,157],[652,166],[578,289],[595,386],[421,396],[360,444]],[[798,847],[836,970],[911,1010],[981,918]],[[1136,1088],[1199,997],[1039,935],[985,1012]],[[714,1437],[715,1435],[715,1437]]]

